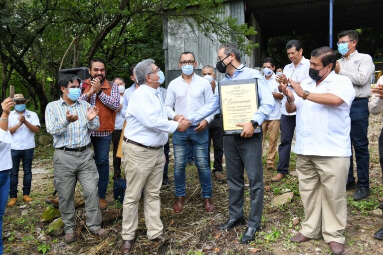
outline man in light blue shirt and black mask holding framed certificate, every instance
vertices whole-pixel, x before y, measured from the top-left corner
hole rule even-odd
[[[250,214],[247,228],[240,242],[248,244],[254,240],[261,227],[263,210],[263,170],[262,170],[262,132],[254,133],[262,122],[269,118],[274,108],[274,99],[265,79],[254,69],[247,68],[241,63],[241,53],[233,43],[222,44],[218,50],[218,63],[216,68],[221,73],[226,73],[222,81],[240,81],[256,79],[258,84],[259,103],[255,97],[258,110],[246,123],[236,126],[243,128],[240,134],[223,137],[223,151],[226,159],[226,176],[229,184],[229,219],[219,226],[220,230],[227,230],[246,223],[243,216],[243,201],[245,182],[243,178],[246,168],[250,188]],[[254,80],[255,82],[255,80]],[[245,84],[247,85],[247,84]],[[238,85],[237,87],[241,87]],[[220,94],[223,98],[223,95]],[[214,94],[196,113],[187,116],[192,122],[199,121],[219,109],[219,96]],[[222,112],[222,115],[224,113]],[[258,129],[259,130],[259,129]]]

